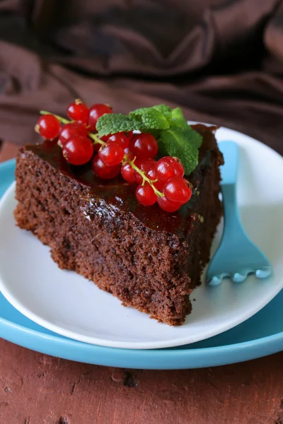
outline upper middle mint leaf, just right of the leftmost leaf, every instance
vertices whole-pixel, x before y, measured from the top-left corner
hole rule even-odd
[[[156,107],[141,107],[141,109],[130,112],[129,117],[141,120],[141,131],[146,131],[146,129],[170,128],[170,122],[165,114]]]

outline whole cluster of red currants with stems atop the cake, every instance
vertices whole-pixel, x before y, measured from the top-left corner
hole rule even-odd
[[[98,177],[111,179],[121,172],[127,182],[137,183],[140,204],[151,206],[157,201],[163,211],[177,211],[192,195],[180,160],[169,156],[154,160],[158,143],[149,133],[129,131],[99,138],[92,131],[96,131],[98,118],[108,113],[112,113],[108,105],[88,109],[76,100],[67,108],[71,121],[46,113],[35,129],[46,139],[58,137],[64,158],[71,165],[84,165],[93,158],[92,169]]]

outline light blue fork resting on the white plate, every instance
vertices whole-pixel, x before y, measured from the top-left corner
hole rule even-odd
[[[267,278],[272,273],[265,254],[249,239],[241,224],[236,201],[238,146],[233,141],[223,141],[219,148],[225,164],[221,167],[221,192],[224,205],[224,232],[219,248],[207,270],[209,285],[218,285],[229,277],[235,283],[245,281],[248,274]]]

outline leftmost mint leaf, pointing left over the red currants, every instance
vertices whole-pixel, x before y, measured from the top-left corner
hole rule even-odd
[[[137,119],[130,119],[122,113],[108,113],[98,119],[96,129],[102,137],[122,131],[133,131],[139,129],[139,126],[140,122]]]

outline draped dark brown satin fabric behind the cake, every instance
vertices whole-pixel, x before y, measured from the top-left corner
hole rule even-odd
[[[283,1],[1,0],[0,139],[38,110],[165,102],[283,151]]]

